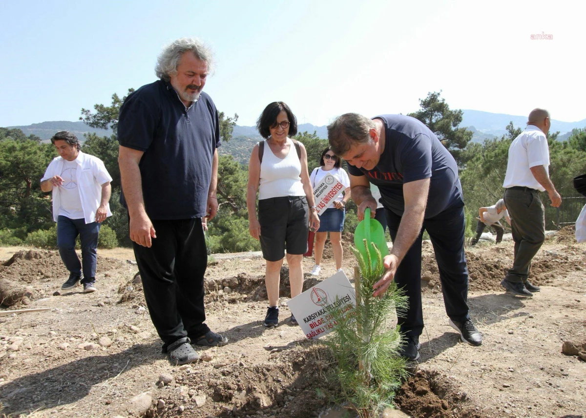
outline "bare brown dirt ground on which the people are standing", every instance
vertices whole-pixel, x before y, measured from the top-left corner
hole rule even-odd
[[[6,262],[11,260],[12,262]],[[562,230],[534,259],[533,298],[505,294],[499,282],[513,243],[468,249],[469,305],[484,342],[459,342],[449,327],[437,266],[424,244],[425,330],[421,359],[397,395],[413,417],[584,417],[586,362],[562,354],[586,339],[586,245]],[[345,252],[344,269],[353,257]],[[56,252],[0,248],[0,278],[28,286],[45,312],[0,316],[0,402],[6,416],[311,417],[331,406],[331,357],[287,321],[283,270],[281,325],[265,329],[264,262],[226,256],[206,273],[207,324],[230,344],[173,366],[144,308],[126,249],[98,250],[98,291],[60,292],[67,272]],[[244,257],[244,258],[243,258]],[[4,264],[9,265],[4,265]],[[305,270],[313,266],[305,260]],[[335,272],[327,247],[323,280]],[[317,280],[306,275],[305,287]],[[224,291],[225,287],[230,290]],[[586,342],[584,343],[586,344]],[[171,380],[159,383],[161,375]],[[142,402],[142,405],[141,405]]]

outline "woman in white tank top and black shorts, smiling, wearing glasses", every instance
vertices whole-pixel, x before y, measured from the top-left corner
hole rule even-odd
[[[282,101],[274,101],[258,118],[257,129],[266,140],[254,145],[248,164],[248,229],[254,239],[260,240],[263,257],[267,260],[264,281],[268,310],[264,326],[277,327],[285,249],[291,297],[295,297],[303,290],[303,254],[307,251],[308,227],[317,229],[319,217],[309,183],[307,152],[301,142],[289,138],[297,134],[297,118],[291,109]],[[293,315],[291,322],[297,325]]]

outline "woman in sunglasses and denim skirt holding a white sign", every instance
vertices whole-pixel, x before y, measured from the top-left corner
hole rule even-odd
[[[309,177],[311,186],[314,189],[328,175],[332,175],[345,188],[344,195],[340,194],[333,202],[330,202],[329,208],[319,216],[319,229],[315,234],[315,266],[310,273],[312,276],[319,276],[319,272],[322,270],[320,264],[328,232],[332,243],[333,256],[336,260],[336,270],[342,269],[342,230],[344,229],[344,219],[346,218],[346,202],[350,199],[350,179],[341,165],[342,160],[340,157],[336,157],[332,149],[328,147],[322,152],[319,167],[312,171]]]

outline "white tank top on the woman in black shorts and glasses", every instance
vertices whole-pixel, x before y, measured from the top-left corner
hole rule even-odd
[[[268,143],[264,144],[263,162],[260,165],[258,199],[281,196],[305,196],[301,183],[301,161],[297,157],[295,144],[287,138],[289,153],[283,159],[275,157]]]

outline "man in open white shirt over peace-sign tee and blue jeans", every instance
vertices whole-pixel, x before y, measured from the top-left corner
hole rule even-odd
[[[69,270],[61,287],[70,290],[83,284],[84,293],[96,291],[98,233],[110,212],[112,178],[101,159],[80,151],[76,135],[60,131],[51,142],[60,157],[51,161],[40,181],[43,192],[53,192],[53,219],[57,222],[57,247]],[[81,260],[75,240],[81,241]],[[81,277],[83,265],[83,278]]]

